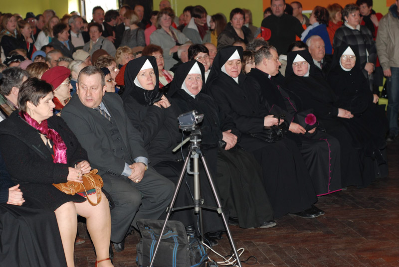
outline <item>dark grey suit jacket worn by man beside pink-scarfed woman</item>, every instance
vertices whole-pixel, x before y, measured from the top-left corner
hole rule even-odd
[[[126,160],[116,156],[108,120],[94,109],[84,106],[78,97],[73,95],[68,104],[62,109],[61,116],[78,137],[83,148],[87,150],[90,164],[98,169],[98,174],[110,173],[120,176],[125,162],[134,163],[138,156],[147,157],[144,142],[140,133],[132,126],[123,108],[122,99],[115,93],[106,93],[103,104],[111,118],[115,120],[122,141],[128,149],[130,158]]]

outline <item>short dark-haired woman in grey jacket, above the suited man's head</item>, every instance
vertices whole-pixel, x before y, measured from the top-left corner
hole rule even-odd
[[[103,49],[111,56],[115,56],[116,49],[114,44],[107,38],[101,36],[103,33],[101,24],[98,24],[97,22],[91,22],[87,27],[89,29],[90,41],[84,44],[83,50],[89,52],[91,56],[93,55],[94,51]]]

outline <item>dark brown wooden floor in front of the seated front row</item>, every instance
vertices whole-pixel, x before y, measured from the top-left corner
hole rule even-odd
[[[231,226],[241,260],[255,256],[262,267],[399,267],[399,143],[388,147],[390,174],[365,189],[319,198],[326,214],[316,219],[286,215],[269,229]],[[85,225],[79,233],[86,243],[75,247],[77,267],[94,266],[94,252]],[[126,239],[125,251],[115,253],[115,267],[135,267],[140,236]],[[226,236],[215,250],[228,255]],[[211,256],[212,257],[212,256]],[[252,261],[251,263],[255,263]],[[248,266],[243,264],[243,266]]]

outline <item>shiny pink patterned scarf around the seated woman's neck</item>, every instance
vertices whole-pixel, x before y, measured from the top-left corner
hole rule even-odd
[[[53,129],[48,129],[47,120],[44,120],[39,124],[34,119],[32,119],[26,112],[19,112],[19,116],[24,119],[31,127],[38,130],[41,134],[46,135],[51,141],[53,141],[54,150],[54,163],[64,163],[66,164],[66,145],[61,138],[61,135],[54,131]]]

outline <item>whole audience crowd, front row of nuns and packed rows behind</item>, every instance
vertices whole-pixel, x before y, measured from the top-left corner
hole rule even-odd
[[[189,134],[177,118],[193,110],[230,225],[316,218],[318,197],[386,177],[399,133],[399,0],[386,15],[373,0],[315,6],[309,17],[302,8],[271,0],[260,27],[249,9],[226,17],[196,5],[177,16],[169,0],[146,12],[96,6],[90,22],[76,11],[0,13],[0,263],[74,266],[78,215],[96,267],[113,266],[138,219],[165,218],[188,153],[172,152]],[[92,169],[101,192],[53,186]],[[201,198],[215,206],[199,172]],[[190,205],[193,190],[186,174],[175,206]],[[94,193],[97,206],[86,201]],[[172,213],[187,235],[217,245],[220,215],[202,218],[199,227],[194,210]]]

